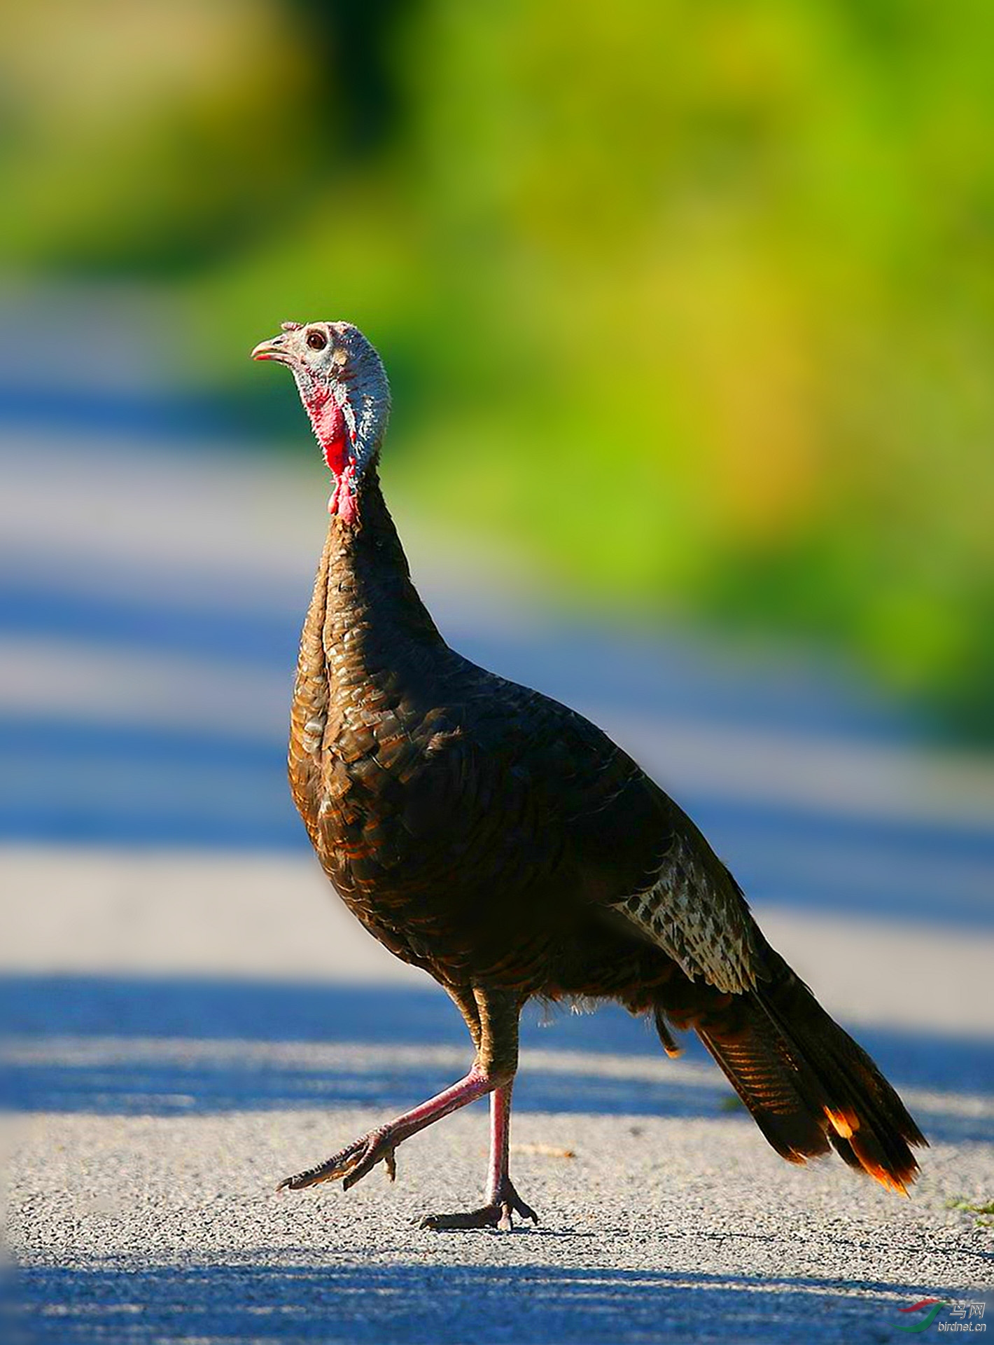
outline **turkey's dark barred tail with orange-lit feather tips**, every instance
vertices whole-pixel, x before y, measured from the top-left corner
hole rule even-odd
[[[866,1052],[772,950],[770,979],[688,1015],[768,1142],[788,1162],[829,1147],[888,1190],[917,1176],[921,1131]],[[670,1014],[673,1018],[674,1015]],[[664,1041],[665,1045],[665,1041]]]

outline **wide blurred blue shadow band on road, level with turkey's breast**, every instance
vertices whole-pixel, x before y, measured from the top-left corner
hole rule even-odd
[[[286,788],[282,709],[269,721],[271,737],[248,737],[0,710],[0,841],[309,855]],[[60,788],[52,791],[56,777]],[[994,866],[989,829],[848,816],[694,788],[677,794],[754,896],[903,925],[994,924],[983,880]],[[834,857],[827,869],[805,859],[826,853]],[[944,876],[942,898],[936,873]]]

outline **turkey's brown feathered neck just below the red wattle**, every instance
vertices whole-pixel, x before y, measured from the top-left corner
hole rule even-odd
[[[376,467],[363,475],[352,523],[332,515],[301,654],[324,664],[328,690],[355,699],[398,666],[446,650],[411,582],[407,557],[383,499]]]

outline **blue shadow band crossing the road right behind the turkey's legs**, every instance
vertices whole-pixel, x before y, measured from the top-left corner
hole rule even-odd
[[[380,1052],[367,1064],[364,1048],[450,1046],[470,1057],[457,1011],[431,989],[4,976],[0,1022],[17,1042],[4,1053],[0,1073],[0,1098],[16,1111],[394,1108],[450,1083],[453,1063],[439,1063],[428,1049],[423,1059],[407,1049],[386,1060]],[[990,1139],[989,1119],[958,1107],[950,1095],[994,1095],[994,1044],[893,1029],[860,1029],[857,1036],[899,1087],[934,1095],[916,1107],[930,1138]],[[688,1060],[709,1063],[696,1038],[685,1042]],[[281,1044],[294,1049],[281,1054]],[[322,1052],[312,1064],[301,1053],[308,1044],[338,1044],[343,1052],[338,1059]],[[732,1100],[717,1069],[668,1069],[646,1024],[614,1005],[584,1015],[556,1011],[547,1024],[528,1010],[523,1048],[563,1054],[556,1069],[529,1069],[525,1054],[514,1095],[521,1111],[716,1118]],[[584,1053],[576,1071],[563,1064],[571,1052]],[[590,1057],[598,1054],[631,1060],[631,1075],[614,1064],[591,1068]],[[658,1079],[639,1071],[646,1059],[660,1063]]]

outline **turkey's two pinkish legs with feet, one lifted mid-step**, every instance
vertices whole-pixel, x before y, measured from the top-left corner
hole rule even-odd
[[[486,1200],[481,1209],[465,1215],[430,1215],[422,1228],[489,1228],[510,1227],[510,1215],[518,1213],[539,1221],[533,1210],[517,1196],[508,1176],[510,1132],[510,1091],[517,1069],[517,1021],[520,1001],[506,991],[473,989],[449,990],[458,1005],[476,1046],[473,1068],[458,1083],[445,1088],[420,1106],[377,1126],[345,1149],[314,1167],[308,1167],[279,1182],[277,1190],[302,1190],[322,1181],[343,1178],[348,1190],[377,1163],[383,1163],[391,1181],[396,1177],[395,1150],[411,1135],[424,1130],[477,1098],[490,1093],[490,1163]]]

